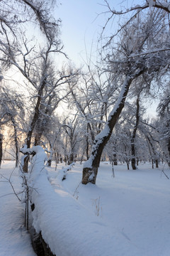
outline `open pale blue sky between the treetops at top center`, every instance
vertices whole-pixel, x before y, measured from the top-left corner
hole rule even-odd
[[[93,50],[96,50],[96,38],[101,33],[101,28],[106,21],[106,16],[101,13],[107,11],[107,8],[103,6],[105,4],[103,0],[60,1],[62,4],[55,11],[55,16],[62,19],[61,38],[64,43],[64,50],[69,58],[79,65],[82,58],[86,58],[85,45],[88,55],[91,51],[92,42],[94,42]],[[127,7],[128,4],[131,2],[134,4],[135,1],[110,0],[110,2],[115,9],[120,10],[121,4]],[[100,15],[98,16],[98,14]],[[110,25],[108,29],[113,29],[114,26],[116,26],[116,22],[113,23],[112,28]]]

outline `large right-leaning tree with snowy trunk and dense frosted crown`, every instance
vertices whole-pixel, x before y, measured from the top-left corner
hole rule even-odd
[[[149,88],[152,80],[169,65],[169,51],[156,51],[158,46],[166,43],[169,48],[169,36],[165,33],[165,42],[162,40],[164,29],[164,14],[148,14],[145,21],[141,19],[132,21],[122,30],[122,38],[118,50],[111,48],[106,56],[108,68],[113,74],[113,84],[121,86],[118,100],[108,116],[106,126],[95,138],[91,156],[84,164],[82,183],[96,183],[98,166],[104,146],[110,139],[113,128],[123,110],[125,99],[130,86],[135,86],[135,80],[141,76],[145,78],[145,86]],[[149,54],[149,49],[154,48],[155,53]],[[166,61],[164,61],[166,60]],[[168,65],[167,65],[168,64]]]

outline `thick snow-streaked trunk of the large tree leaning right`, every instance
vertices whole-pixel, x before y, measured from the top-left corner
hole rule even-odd
[[[118,100],[115,103],[115,107],[113,107],[113,110],[108,117],[105,128],[96,136],[94,140],[91,156],[89,160],[84,163],[83,176],[81,181],[81,183],[83,184],[96,183],[96,176],[98,174],[98,166],[101,161],[101,154],[103,152],[103,148],[104,146],[106,146],[108,139],[110,139],[113,128],[115,127],[120,113],[123,110],[123,107],[125,105],[125,98],[128,95],[128,90],[130,88],[132,80],[132,77],[126,78]]]

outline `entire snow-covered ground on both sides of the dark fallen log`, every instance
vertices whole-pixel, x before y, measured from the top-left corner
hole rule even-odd
[[[5,162],[0,173],[8,177],[12,166]],[[119,164],[113,178],[111,165],[101,163],[96,185],[80,183],[78,163],[61,181],[62,166],[46,168],[48,179],[43,172],[33,191],[35,228],[57,256],[170,255],[170,181],[164,166],[140,164],[127,171]],[[16,187],[17,174],[12,176]],[[1,182],[0,193],[12,193],[10,185]],[[23,228],[23,205],[8,195],[0,198],[0,208],[0,255],[34,256]]]

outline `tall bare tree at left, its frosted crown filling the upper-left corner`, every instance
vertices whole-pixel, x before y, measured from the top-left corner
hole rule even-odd
[[[0,3],[1,9],[1,67],[9,68],[11,65],[15,66],[21,74],[38,90],[38,98],[35,106],[35,114],[33,115],[30,129],[28,130],[27,146],[30,146],[30,139],[35,128],[35,122],[38,120],[39,107],[42,97],[42,91],[46,85],[46,73],[47,73],[47,57],[50,53],[62,52],[62,46],[59,38],[60,32],[60,20],[56,21],[50,15],[52,3],[56,1],[27,1],[27,0],[14,0],[10,3],[2,0]],[[20,11],[18,12],[18,9]],[[40,30],[45,35],[45,41],[47,43],[47,50],[45,50],[44,65],[42,67],[42,75],[39,86],[33,80],[30,75],[33,72],[33,63],[28,61],[27,57],[33,51],[33,48],[28,49],[26,40],[20,42],[21,34],[24,26],[21,24],[28,23],[29,21],[36,21]],[[24,33],[24,31],[23,31]],[[25,53],[23,53],[23,46],[25,47]],[[38,57],[38,56],[37,56]],[[23,65],[19,65],[20,60],[23,60]],[[43,73],[44,72],[44,73]],[[26,164],[28,165],[28,164]],[[27,166],[26,166],[27,171]]]

